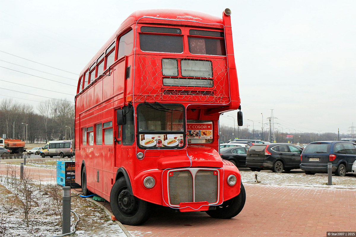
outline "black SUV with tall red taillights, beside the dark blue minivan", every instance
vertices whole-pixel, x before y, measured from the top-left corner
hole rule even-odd
[[[302,150],[289,143],[269,143],[251,146],[247,151],[246,166],[252,171],[270,169],[276,173],[299,169]]]

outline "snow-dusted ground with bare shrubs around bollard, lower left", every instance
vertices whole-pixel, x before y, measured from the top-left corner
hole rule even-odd
[[[28,227],[25,219],[25,189],[19,179],[0,176],[0,236],[47,237],[62,235],[61,211],[62,188],[57,185],[32,183],[31,208],[28,212]],[[73,193],[72,193],[73,195]],[[73,196],[71,209],[80,218],[76,232],[78,237],[126,237],[124,231],[99,206]],[[71,231],[77,218],[71,214]]]

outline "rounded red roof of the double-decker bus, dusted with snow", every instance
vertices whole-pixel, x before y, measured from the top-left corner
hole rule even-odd
[[[203,25],[210,25],[211,27],[221,26],[223,25],[223,18],[212,16],[209,14],[205,14],[202,12],[197,11],[189,11],[189,10],[177,10],[177,9],[155,9],[155,10],[140,10],[133,12],[129,17],[126,18],[124,22],[120,25],[120,27],[116,30],[116,32],[109,38],[109,40],[101,47],[101,49],[94,55],[93,58],[89,61],[89,63],[84,67],[84,69],[80,72],[80,76],[94,63],[94,61],[105,51],[105,49],[115,41],[116,37],[125,31],[128,27],[132,24],[137,22],[143,17],[151,17],[150,20],[141,20],[140,22],[157,22],[157,19],[152,18],[159,18],[162,20],[173,20],[177,21],[177,24],[181,24],[182,21],[185,22],[195,22],[196,25],[203,26]],[[158,20],[159,20],[158,19]],[[159,23],[159,22],[157,22]]]

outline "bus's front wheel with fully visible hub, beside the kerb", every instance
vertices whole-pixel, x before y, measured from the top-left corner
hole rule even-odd
[[[125,177],[119,178],[111,188],[110,206],[116,219],[124,225],[137,226],[150,217],[152,204],[133,196],[127,189]]]

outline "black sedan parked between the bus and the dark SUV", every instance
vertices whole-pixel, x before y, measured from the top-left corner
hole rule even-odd
[[[237,167],[246,167],[246,153],[248,147],[224,147],[220,149],[221,158],[231,161]]]

